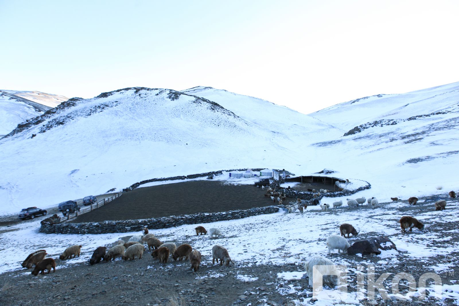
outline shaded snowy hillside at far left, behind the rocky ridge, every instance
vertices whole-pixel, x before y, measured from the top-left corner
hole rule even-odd
[[[19,123],[42,115],[49,106],[0,90],[0,136],[10,133]]]

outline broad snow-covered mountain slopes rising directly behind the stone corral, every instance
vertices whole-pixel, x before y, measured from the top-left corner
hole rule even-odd
[[[315,118],[208,87],[73,98],[0,140],[0,214],[148,178],[244,167],[298,175],[332,168],[369,181],[381,200],[432,194],[439,185],[457,190],[459,180],[445,173],[458,161],[458,89],[350,101]]]

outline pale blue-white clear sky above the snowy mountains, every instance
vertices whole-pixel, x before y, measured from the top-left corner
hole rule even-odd
[[[458,82],[456,0],[0,0],[0,89],[211,86],[310,113]]]

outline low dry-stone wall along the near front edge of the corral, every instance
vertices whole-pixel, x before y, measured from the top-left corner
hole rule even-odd
[[[192,215],[170,216],[151,219],[104,221],[89,223],[42,224],[40,232],[45,234],[107,234],[141,231],[149,229],[172,228],[183,224],[202,224],[215,221],[233,220],[245,217],[278,212],[278,206],[255,207],[246,210],[198,213]]]

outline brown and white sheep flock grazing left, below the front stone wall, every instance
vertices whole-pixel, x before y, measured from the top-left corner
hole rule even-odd
[[[207,234],[207,230],[202,227],[198,226],[195,228],[196,235],[199,234]],[[182,244],[177,247],[173,242],[166,242],[163,243],[159,239],[155,237],[154,234],[148,232],[148,228],[142,229],[142,235],[134,235],[129,238],[128,242],[124,242],[123,240],[116,241],[116,245],[110,249],[106,249],[105,246],[99,246],[95,249],[94,253],[91,256],[89,261],[90,265],[94,265],[96,263],[104,261],[111,261],[115,260],[117,257],[121,257],[124,260],[134,260],[135,257],[138,259],[142,258],[144,250],[146,246],[148,246],[148,250],[151,251],[151,256],[154,259],[159,259],[159,262],[166,263],[171,256],[174,261],[181,261],[182,259],[189,260],[191,264],[191,269],[195,272],[199,269],[199,266],[202,261],[201,252],[193,249],[189,244]],[[218,228],[210,228],[209,234],[212,237],[220,237],[222,233]],[[144,245],[146,244],[146,246]],[[82,245],[72,245],[64,250],[64,252],[59,256],[59,259],[66,260],[68,258],[74,258],[80,256]],[[32,271],[33,275],[45,274],[56,271],[56,261],[51,258],[45,256],[47,255],[46,250],[37,250],[27,256],[27,258],[22,262],[22,267],[24,268],[32,268],[34,265],[34,270]],[[229,257],[228,250],[226,250],[221,245],[214,245],[212,248],[212,264],[215,261],[220,261],[220,265],[222,266],[225,263],[226,266],[229,266],[229,263],[232,262],[231,257]]]

